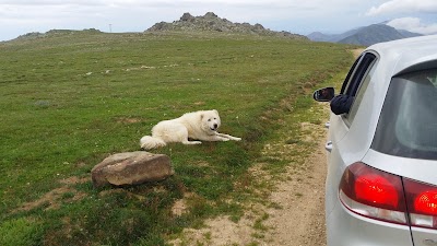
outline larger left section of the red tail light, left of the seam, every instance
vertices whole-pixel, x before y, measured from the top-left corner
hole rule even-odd
[[[354,163],[340,184],[340,200],[364,216],[406,224],[402,179],[399,176]]]

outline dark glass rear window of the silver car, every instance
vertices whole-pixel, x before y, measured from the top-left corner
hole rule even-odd
[[[392,78],[371,149],[437,160],[437,68]]]

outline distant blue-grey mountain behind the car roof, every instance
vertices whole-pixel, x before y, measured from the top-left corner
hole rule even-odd
[[[395,30],[386,24],[374,24],[347,31],[338,35],[326,35],[322,33],[311,33],[307,37],[316,42],[332,42],[341,44],[352,44],[370,46],[381,42],[395,40],[406,37],[422,36],[421,34],[408,31]]]

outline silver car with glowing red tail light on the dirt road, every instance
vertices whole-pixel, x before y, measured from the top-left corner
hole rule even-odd
[[[328,245],[437,246],[437,35],[368,47],[333,96]]]

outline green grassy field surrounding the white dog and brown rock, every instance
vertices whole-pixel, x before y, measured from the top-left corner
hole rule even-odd
[[[250,184],[281,118],[314,104],[315,86],[352,62],[349,48],[177,33],[0,43],[0,245],[166,245],[206,218],[238,220],[255,195],[235,184]],[[241,142],[169,144],[152,152],[170,156],[172,178],[93,188],[91,168],[139,150],[157,121],[213,108]],[[188,212],[173,214],[188,192]]]

